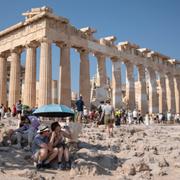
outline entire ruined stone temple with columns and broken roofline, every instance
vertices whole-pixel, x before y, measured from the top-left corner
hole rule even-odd
[[[25,16],[23,22],[0,32],[1,104],[8,103],[8,106],[12,107],[22,99],[21,54],[25,51],[23,104],[30,107],[49,103],[70,106],[70,50],[74,48],[80,54],[79,93],[87,106],[90,105],[89,54],[92,53],[97,58],[99,87],[106,84],[106,58],[112,62],[111,97],[114,107],[122,106],[121,65],[124,64],[126,66],[125,93],[129,109],[138,108],[143,114],[180,112],[180,62],[176,59],[148,48],[140,48],[130,42],[115,44],[114,36],[96,39],[95,29],[91,27],[77,29],[68,19],[53,14],[49,7],[33,8],[23,15]],[[52,83],[53,43],[60,50],[58,88],[56,83]],[[37,48],[40,48],[38,95],[36,95]],[[133,75],[135,66],[138,70],[139,87],[137,105]],[[9,78],[7,78],[8,72]]]

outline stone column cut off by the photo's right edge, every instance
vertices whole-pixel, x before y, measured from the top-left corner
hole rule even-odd
[[[180,76],[174,77],[176,113],[180,113]]]

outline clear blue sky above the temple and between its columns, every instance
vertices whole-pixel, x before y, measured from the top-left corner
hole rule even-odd
[[[134,42],[180,59],[180,0],[1,0],[0,30],[22,21],[22,12],[41,6],[50,6],[55,14],[68,18],[77,28],[97,29],[97,38],[115,35],[117,43]],[[79,55],[74,50],[71,60],[72,89],[78,91]],[[53,79],[58,79],[58,64],[59,50],[53,46]],[[90,65],[92,77],[96,72],[93,56]],[[109,76],[110,65],[107,60]]]

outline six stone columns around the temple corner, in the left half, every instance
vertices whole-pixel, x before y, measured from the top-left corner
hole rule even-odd
[[[40,41],[40,70],[39,70],[39,95],[38,106],[57,103],[57,84],[52,81],[52,54],[51,41],[46,38]],[[60,104],[71,106],[71,65],[70,47],[58,43],[61,49],[59,73],[59,98]],[[36,43],[26,46],[24,104],[36,106]],[[11,51],[9,99],[8,105],[12,107],[20,99],[20,54],[22,49]],[[80,53],[80,94],[84,97],[87,106],[90,106],[90,74],[88,52],[79,50]],[[8,56],[7,56],[8,57]],[[7,103],[7,57],[0,56],[0,103]],[[53,87],[53,88],[52,88]]]

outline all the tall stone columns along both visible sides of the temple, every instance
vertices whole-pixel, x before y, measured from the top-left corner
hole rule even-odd
[[[39,76],[39,100],[38,106],[57,102],[55,87],[52,84],[52,52],[51,44],[47,38],[40,41],[40,76]],[[70,46],[65,43],[57,43],[61,49],[60,54],[60,75],[59,75],[59,99],[58,102],[67,106],[71,105],[71,66]],[[25,65],[25,88],[24,104],[31,107],[36,105],[36,43],[26,46]],[[80,53],[80,94],[83,96],[87,106],[90,106],[90,73],[88,51],[78,49]],[[9,84],[9,106],[12,107],[20,98],[20,54],[22,49],[16,48],[11,51],[11,68]],[[99,74],[99,85],[106,85],[105,56],[96,54]],[[122,104],[121,89],[121,61],[112,60],[112,102],[115,107]],[[128,108],[135,108],[135,81],[133,76],[133,64],[124,62],[126,65],[126,100]],[[6,80],[7,80],[7,55],[0,56],[0,103],[6,104]],[[149,72],[149,96],[147,97],[145,68],[142,65],[138,68],[139,100],[138,109],[143,114],[165,112],[166,110],[180,111],[180,77],[173,77],[171,74],[160,76],[159,96],[157,94],[156,73],[148,68]],[[52,88],[53,87],[53,88]],[[53,89],[53,93],[52,93]],[[158,99],[159,97],[159,99]],[[176,98],[175,98],[176,97]],[[53,99],[53,100],[52,100]],[[149,102],[149,104],[147,104]]]

